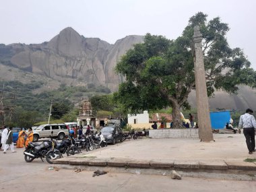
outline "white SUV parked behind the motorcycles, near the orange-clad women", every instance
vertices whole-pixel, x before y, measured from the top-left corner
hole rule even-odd
[[[64,139],[65,135],[69,135],[69,129],[65,124],[46,124],[40,125],[39,127],[33,130],[33,141],[36,142],[40,138],[50,137],[52,135],[52,131],[53,137],[58,137],[58,139],[60,140]]]

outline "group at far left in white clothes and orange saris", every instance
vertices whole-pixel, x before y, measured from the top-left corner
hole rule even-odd
[[[6,151],[11,148],[11,152],[15,153],[14,143],[13,143],[13,131],[12,127],[7,128],[3,126],[3,131],[1,135],[1,151],[6,154]],[[16,148],[24,148],[28,146],[29,142],[33,141],[33,131],[31,128],[28,129],[28,132],[20,129],[18,140],[16,142]]]

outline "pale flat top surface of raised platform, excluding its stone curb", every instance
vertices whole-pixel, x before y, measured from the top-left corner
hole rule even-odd
[[[214,134],[215,142],[199,139],[137,139],[109,145],[93,151],[98,158],[131,158],[136,160],[232,160],[242,162],[256,158],[248,154],[243,134]]]

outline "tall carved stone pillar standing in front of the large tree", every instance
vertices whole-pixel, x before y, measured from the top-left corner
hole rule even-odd
[[[197,123],[199,127],[199,139],[201,141],[214,140],[210,120],[210,110],[207,97],[205,69],[203,63],[203,51],[201,41],[202,34],[199,26],[195,26],[193,35],[193,54],[195,66],[195,90],[197,98]]]

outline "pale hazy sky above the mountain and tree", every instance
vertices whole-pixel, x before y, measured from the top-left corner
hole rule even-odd
[[[230,26],[228,42],[256,69],[254,0],[0,0],[0,43],[49,41],[68,26],[109,43],[130,34],[177,38],[189,18],[203,11]]]

